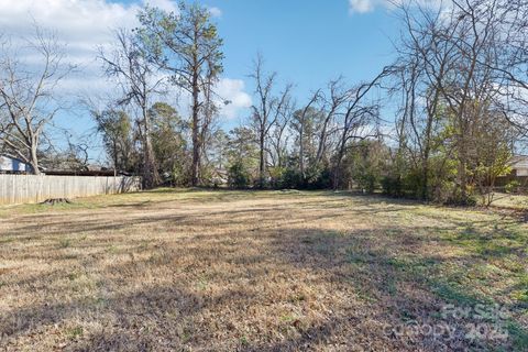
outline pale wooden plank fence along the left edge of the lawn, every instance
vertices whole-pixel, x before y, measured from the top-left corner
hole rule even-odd
[[[140,189],[140,177],[0,175],[0,205],[112,195]]]

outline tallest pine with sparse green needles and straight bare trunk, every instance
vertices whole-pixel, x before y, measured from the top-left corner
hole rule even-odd
[[[200,183],[204,135],[215,111],[213,88],[223,70],[222,40],[210,11],[197,3],[180,2],[178,13],[146,7],[138,29],[150,57],[170,74],[170,82],[191,97],[191,185]]]

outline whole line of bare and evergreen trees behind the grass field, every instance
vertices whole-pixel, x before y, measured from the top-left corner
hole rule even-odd
[[[528,4],[407,1],[397,13],[396,58],[366,81],[336,77],[299,98],[257,55],[253,106],[224,131],[223,43],[208,9],[144,7],[140,25],[116,31],[112,48],[98,54],[119,91],[103,108],[89,105],[109,166],[141,175],[146,188],[356,188],[491,202],[526,134]],[[82,167],[89,146],[68,143],[57,153],[46,136],[63,108],[54,89],[75,69],[61,45],[37,30],[31,48],[44,68],[29,72],[9,38],[2,43],[0,153],[35,174],[41,161]]]

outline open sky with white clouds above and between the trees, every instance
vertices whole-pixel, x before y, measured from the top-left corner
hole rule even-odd
[[[391,40],[398,21],[388,0],[207,0],[224,40],[220,92],[233,103],[222,111],[226,129],[248,117],[253,85],[248,78],[256,53],[282,84],[295,84],[304,103],[309,92],[343,75],[350,85],[374,77],[394,59]],[[32,24],[51,29],[67,43],[68,59],[79,73],[63,85],[70,97],[116,94],[102,76],[97,46],[109,45],[112,30],[138,25],[135,14],[148,2],[165,10],[170,0],[0,0],[0,28],[30,36]],[[180,108],[184,110],[184,108]],[[74,139],[92,131],[91,119],[74,109],[57,119]],[[61,143],[61,141],[58,142]],[[94,153],[94,158],[100,154]]]

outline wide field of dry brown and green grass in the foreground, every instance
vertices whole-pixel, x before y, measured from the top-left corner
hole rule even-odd
[[[0,350],[528,351],[528,226],[346,193],[0,208]]]

